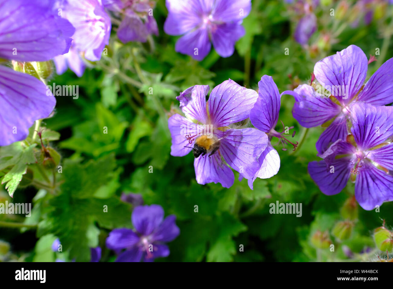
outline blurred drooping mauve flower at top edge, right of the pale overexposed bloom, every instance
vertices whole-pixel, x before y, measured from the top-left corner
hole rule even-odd
[[[121,42],[146,42],[151,34],[158,35],[153,16],[156,3],[151,0],[103,0],[103,5],[116,15],[123,15],[118,29]]]

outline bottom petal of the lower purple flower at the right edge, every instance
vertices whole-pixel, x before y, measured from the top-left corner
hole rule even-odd
[[[393,201],[393,177],[365,161],[355,182],[355,198],[364,210]]]

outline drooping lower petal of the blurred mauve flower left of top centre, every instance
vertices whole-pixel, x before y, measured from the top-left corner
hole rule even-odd
[[[147,27],[138,15],[125,17],[118,29],[118,37],[123,43],[146,42],[147,35],[149,35]]]

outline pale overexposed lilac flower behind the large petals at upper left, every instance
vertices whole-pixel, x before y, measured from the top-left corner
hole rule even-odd
[[[81,58],[98,61],[105,45],[109,43],[110,18],[99,0],[63,0],[58,5],[59,14],[75,27],[70,52],[55,57],[58,74],[67,66],[79,77],[83,75],[85,64]]]

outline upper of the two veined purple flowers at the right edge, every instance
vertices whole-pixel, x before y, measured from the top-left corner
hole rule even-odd
[[[351,103],[363,101],[373,105],[393,102],[393,58],[386,61],[364,85],[367,74],[367,57],[355,45],[348,46],[318,61],[314,74],[321,84],[317,91],[310,85],[300,85],[294,90],[294,118],[303,127],[327,126],[316,143],[319,153],[347,135],[347,120]],[[325,97],[326,89],[331,96]],[[322,91],[322,92],[321,92]]]

